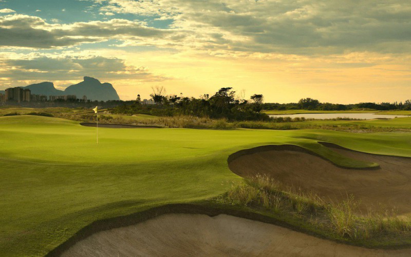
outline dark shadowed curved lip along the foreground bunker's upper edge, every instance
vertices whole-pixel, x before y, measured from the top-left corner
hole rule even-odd
[[[85,226],[84,228],[79,230],[76,234],[71,236],[71,238],[69,238],[67,241],[65,241],[64,243],[60,244],[58,247],[51,250],[49,253],[46,254],[46,256],[61,256],[70,247],[76,245],[76,243],[81,242],[82,240],[85,240],[89,236],[95,233],[98,233],[100,231],[136,225],[136,224],[145,222],[147,220],[156,218],[158,216],[161,216],[164,214],[170,214],[170,213],[205,214],[210,217],[214,217],[219,214],[226,214],[226,215],[244,218],[248,220],[273,224],[273,225],[281,226],[283,228],[287,228],[287,229],[294,230],[294,231],[299,231],[301,233],[304,233],[304,235],[313,235],[318,239],[325,239],[326,242],[329,242],[329,243],[335,243],[335,242],[338,243],[338,241],[336,240],[328,239],[324,235],[316,234],[315,232],[310,231],[304,227],[298,227],[295,225],[291,225],[289,223],[277,220],[271,216],[267,216],[264,214],[240,210],[233,206],[224,206],[222,208],[221,206],[211,206],[211,205],[205,206],[205,205],[199,205],[199,204],[167,204],[167,205],[153,207],[151,209],[143,210],[140,212],[136,212],[136,213],[132,213],[132,214],[124,215],[124,216],[118,216],[115,218],[109,218],[109,219],[98,220],[98,221],[92,222],[91,224]],[[349,243],[347,244],[347,242],[344,242],[344,244],[342,245],[350,246],[350,244]],[[398,244],[398,245],[383,245],[381,247],[378,247],[378,249],[380,249],[380,251],[385,251],[385,250],[390,250],[390,249],[395,249],[395,250],[401,249],[401,250],[407,250],[407,252],[409,253],[409,251],[411,250],[409,249],[410,247],[411,245],[409,244]],[[369,248],[361,248],[361,249],[369,249]],[[403,254],[403,255],[406,256],[406,254]]]

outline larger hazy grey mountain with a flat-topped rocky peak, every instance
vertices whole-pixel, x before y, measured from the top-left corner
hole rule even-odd
[[[110,83],[101,84],[96,78],[87,76],[84,77],[83,82],[67,87],[64,94],[75,94],[77,98],[86,95],[87,99],[98,101],[120,100],[113,85]]]

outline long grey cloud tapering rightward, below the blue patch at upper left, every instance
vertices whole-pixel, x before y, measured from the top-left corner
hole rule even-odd
[[[147,27],[141,22],[126,19],[61,25],[22,14],[0,16],[0,46],[47,49],[98,43],[108,39],[143,42],[147,37],[161,39],[167,36],[173,36],[172,31]]]

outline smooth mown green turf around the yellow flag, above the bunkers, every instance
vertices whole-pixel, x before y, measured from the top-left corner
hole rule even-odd
[[[92,221],[208,199],[240,177],[229,154],[296,144],[346,166],[316,143],[411,156],[410,133],[321,130],[99,129],[42,116],[0,117],[0,255],[43,255]]]

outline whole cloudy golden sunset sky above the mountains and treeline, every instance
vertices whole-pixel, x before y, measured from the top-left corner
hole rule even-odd
[[[0,0],[0,90],[92,76],[265,102],[411,99],[409,0]]]

